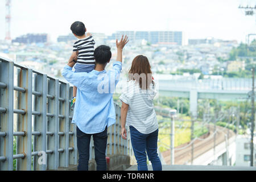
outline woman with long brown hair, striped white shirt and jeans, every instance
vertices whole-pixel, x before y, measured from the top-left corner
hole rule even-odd
[[[154,81],[146,56],[136,56],[129,71],[129,81],[119,99],[121,107],[122,138],[126,139],[125,125],[130,127],[131,144],[138,171],[147,171],[147,156],[155,171],[162,170],[157,153],[158,121],[154,110]],[[147,151],[147,156],[146,156]]]

